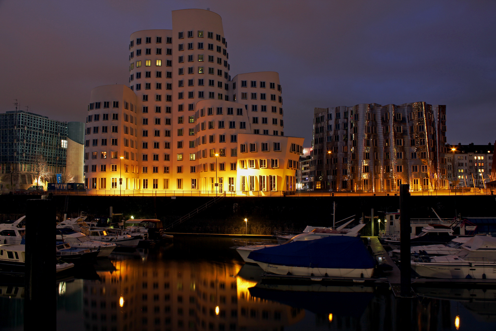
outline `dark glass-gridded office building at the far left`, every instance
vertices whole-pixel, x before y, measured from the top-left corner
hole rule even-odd
[[[72,126],[82,127],[80,122],[61,122],[50,120],[27,111],[7,111],[0,114],[0,188],[3,190],[26,189],[36,185],[34,162],[41,155],[47,162],[51,178],[44,181],[55,181],[55,174],[65,172],[67,159],[82,167],[82,154],[71,154],[68,151],[68,130]],[[82,131],[81,137],[82,140]],[[77,158],[77,160],[73,160]],[[73,174],[76,175],[76,174]],[[82,172],[79,173],[82,181]],[[44,185],[43,181],[39,185]]]

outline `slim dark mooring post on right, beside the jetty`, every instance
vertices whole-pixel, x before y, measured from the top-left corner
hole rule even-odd
[[[410,265],[410,185],[400,185],[400,271],[401,296],[411,296],[411,265]]]

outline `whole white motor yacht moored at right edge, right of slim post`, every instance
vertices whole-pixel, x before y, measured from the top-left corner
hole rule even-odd
[[[496,238],[474,236],[454,255],[420,256],[411,262],[421,277],[496,279]]]

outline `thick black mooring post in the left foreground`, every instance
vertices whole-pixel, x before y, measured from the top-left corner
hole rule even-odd
[[[26,201],[24,330],[56,330],[55,204]]]

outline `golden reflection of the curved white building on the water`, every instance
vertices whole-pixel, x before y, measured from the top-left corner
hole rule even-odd
[[[241,264],[114,261],[116,271],[85,280],[86,330],[281,330],[305,312],[249,293]]]

